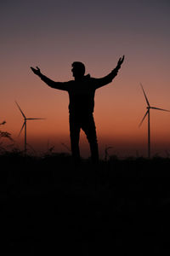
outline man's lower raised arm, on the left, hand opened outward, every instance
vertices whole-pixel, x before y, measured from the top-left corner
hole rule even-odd
[[[59,90],[68,90],[68,84],[67,82],[54,82],[52,79],[48,79],[48,77],[44,76],[41,71],[40,68],[37,67],[31,67],[31,70],[33,73],[35,73],[40,79],[42,79],[42,81],[46,84],[48,84],[48,86],[54,88],[54,89],[59,89]]]

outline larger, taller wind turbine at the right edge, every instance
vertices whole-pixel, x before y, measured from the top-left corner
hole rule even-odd
[[[143,90],[143,92],[144,92],[144,88],[143,88],[142,84],[140,84],[140,86],[141,86],[141,88],[142,88],[142,90]],[[144,92],[144,97],[145,97],[145,100],[146,100],[146,103],[147,103],[147,107],[146,107],[147,111],[146,111],[146,113],[144,114],[143,119],[142,119],[141,122],[139,123],[139,126],[142,125],[142,123],[143,123],[145,117],[148,115],[148,158],[150,158],[150,108],[151,108],[151,109],[156,109],[156,110],[161,110],[161,111],[167,111],[167,112],[170,112],[170,111],[167,110],[167,109],[163,109],[163,108],[151,107],[151,106],[150,106],[150,102],[148,101],[148,98],[147,98],[145,92]]]

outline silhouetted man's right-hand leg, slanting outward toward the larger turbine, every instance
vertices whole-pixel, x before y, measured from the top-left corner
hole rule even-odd
[[[94,123],[94,116],[90,114],[82,118],[82,130],[86,133],[88,143],[90,145],[91,158],[93,163],[99,162],[99,149],[96,135],[96,128]]]

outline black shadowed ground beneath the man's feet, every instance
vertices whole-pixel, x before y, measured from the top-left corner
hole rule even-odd
[[[0,255],[170,255],[170,159],[0,161]]]

